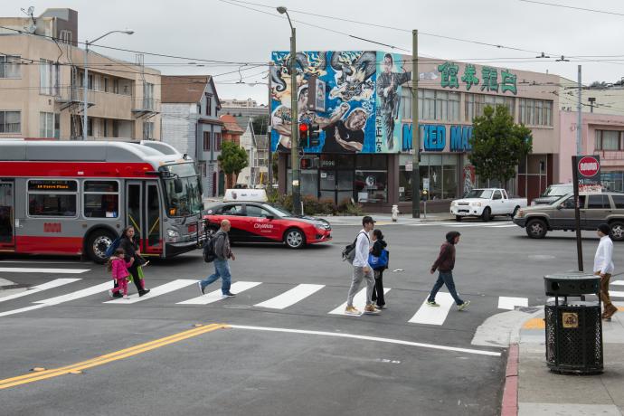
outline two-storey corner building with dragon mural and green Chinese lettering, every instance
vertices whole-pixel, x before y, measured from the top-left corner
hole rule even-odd
[[[279,153],[279,190],[290,192],[288,52],[273,52],[272,61],[271,150]],[[318,142],[303,149],[302,194],[336,203],[353,198],[383,209],[411,203],[411,56],[298,52],[297,62],[299,121],[322,128]],[[321,80],[315,90],[308,85],[312,76]],[[555,182],[558,81],[530,71],[419,58],[420,174],[428,198],[450,200],[476,185],[496,185],[479,181],[468,161],[472,120],[487,105],[506,106],[533,134],[533,153],[507,189],[534,197],[540,191],[534,181]]]

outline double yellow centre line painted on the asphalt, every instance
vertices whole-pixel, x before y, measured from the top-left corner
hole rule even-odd
[[[151,351],[153,349],[159,348],[161,346],[174,344],[179,341],[183,341],[184,339],[191,338],[193,336],[200,336],[202,334],[206,334],[208,332],[215,331],[217,329],[227,328],[229,326],[223,324],[212,324],[207,326],[199,326],[194,329],[189,329],[187,331],[180,332],[178,334],[174,334],[173,336],[165,336],[164,338],[159,338],[154,341],[150,341],[144,344],[134,345],[129,348],[125,348],[114,353],[110,353],[107,355],[100,355],[99,357],[91,358],[90,360],[82,361],[80,363],[67,365],[65,367],[53,368],[50,370],[45,370],[38,373],[28,373],[24,375],[19,375],[17,377],[7,378],[5,380],[0,380],[0,390],[14,387],[16,385],[25,384],[25,383],[33,383],[39,380],[45,380],[52,377],[57,377],[59,375],[67,374],[67,373],[75,373],[85,370],[87,368],[95,367],[102,364],[107,364],[112,361],[121,360],[124,358],[128,358],[133,355],[138,355],[141,353],[145,353],[147,351]]]

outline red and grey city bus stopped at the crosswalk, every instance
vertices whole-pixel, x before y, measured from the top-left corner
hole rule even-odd
[[[144,256],[200,242],[194,162],[161,142],[0,140],[0,252],[88,255],[133,225]]]

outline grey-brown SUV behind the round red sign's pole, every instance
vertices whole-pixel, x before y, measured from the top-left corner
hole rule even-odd
[[[581,230],[596,230],[606,222],[611,227],[611,238],[624,241],[624,194],[605,192],[579,195],[581,204]],[[574,196],[566,195],[549,205],[523,208],[514,222],[526,229],[534,239],[542,239],[553,230],[576,231],[574,225]]]

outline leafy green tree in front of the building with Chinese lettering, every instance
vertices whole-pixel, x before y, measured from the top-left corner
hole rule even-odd
[[[501,184],[515,177],[515,166],[533,149],[531,130],[515,124],[506,106],[487,106],[473,122],[468,160],[482,179],[498,179]]]

